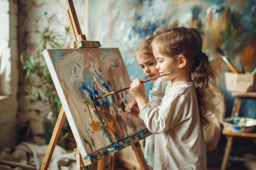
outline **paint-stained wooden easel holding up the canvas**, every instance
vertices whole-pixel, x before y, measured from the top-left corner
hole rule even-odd
[[[66,3],[67,3],[66,14],[67,14],[67,19],[70,25],[70,31],[73,38],[73,42],[71,43],[70,47],[71,48],[84,48],[84,47],[98,48],[99,46],[101,46],[98,41],[86,40],[85,35],[83,35],[81,32],[80,25],[76,16],[76,11],[74,9],[73,1],[66,0]],[[49,142],[49,146],[47,148],[47,152],[45,154],[45,158],[43,160],[43,164],[40,170],[47,170],[49,167],[49,163],[50,163],[50,160],[52,159],[54,148],[57,144],[58,137],[61,133],[61,128],[63,126],[64,121],[65,121],[65,111],[63,107],[61,107],[51,140]],[[132,150],[135,152],[135,155],[137,157],[141,170],[149,170],[148,165],[144,159],[144,155],[141,151],[141,146],[139,144],[139,140],[144,139],[149,135],[151,135],[151,133],[148,130],[144,130],[139,134],[133,135],[132,137],[129,137],[128,139],[124,140],[128,142],[121,141],[115,144],[114,146],[118,146],[119,148],[125,148],[128,146],[127,144],[129,143],[130,146],[132,146]],[[85,169],[89,170],[90,169],[89,165],[95,162],[97,162],[97,170],[103,170],[104,158],[109,156],[108,154],[104,153],[104,150],[101,150],[92,155],[89,155],[88,157],[82,158],[78,148],[74,149],[74,151],[76,152],[76,165],[77,165],[76,167],[79,167],[80,170],[85,170]],[[119,151],[119,149],[112,152],[112,154],[117,151]]]

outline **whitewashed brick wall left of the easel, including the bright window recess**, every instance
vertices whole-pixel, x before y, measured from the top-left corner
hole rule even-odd
[[[76,15],[85,33],[85,0],[73,0]],[[0,151],[12,148],[16,141],[45,144],[43,117],[48,108],[32,98],[25,99],[20,53],[34,55],[39,44],[35,31],[64,31],[69,27],[65,0],[0,0]],[[71,37],[71,36],[70,36]],[[70,42],[68,42],[70,43]],[[17,130],[28,127],[27,138],[20,139]]]

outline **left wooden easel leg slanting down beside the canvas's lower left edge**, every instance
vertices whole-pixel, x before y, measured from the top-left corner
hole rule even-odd
[[[52,138],[49,142],[49,146],[47,148],[45,158],[43,160],[43,164],[42,164],[40,170],[47,170],[48,169],[49,163],[52,159],[52,154],[53,154],[54,148],[55,148],[55,146],[57,144],[57,141],[58,141],[58,137],[61,134],[61,128],[63,126],[64,121],[65,121],[65,112],[64,112],[63,107],[61,107],[61,111],[58,115],[58,119],[56,121],[54,130],[52,132]]]

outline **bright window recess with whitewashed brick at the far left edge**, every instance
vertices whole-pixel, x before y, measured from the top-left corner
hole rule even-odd
[[[0,0],[0,151],[15,146],[18,47],[17,4]]]

